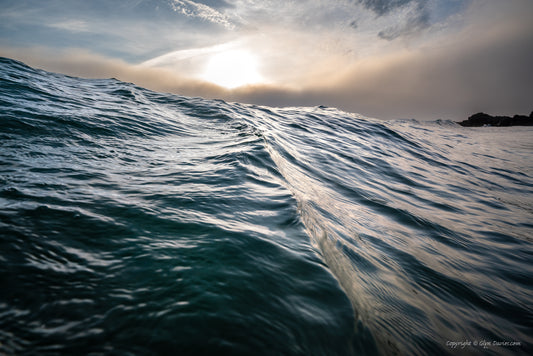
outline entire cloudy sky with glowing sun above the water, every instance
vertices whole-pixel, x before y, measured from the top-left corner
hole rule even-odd
[[[186,96],[461,121],[533,110],[531,0],[0,0],[0,56]]]

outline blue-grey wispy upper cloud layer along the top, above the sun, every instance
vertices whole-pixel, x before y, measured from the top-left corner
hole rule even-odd
[[[446,4],[467,0],[446,0]],[[361,37],[416,37],[443,0],[21,0],[0,11],[0,43],[82,47],[127,61],[213,46],[243,35],[300,32],[329,36],[352,51]],[[442,5],[448,9],[450,6]],[[440,9],[440,8],[439,8]],[[446,11],[439,10],[439,13]],[[317,42],[322,42],[320,39]],[[349,49],[347,49],[349,50]]]

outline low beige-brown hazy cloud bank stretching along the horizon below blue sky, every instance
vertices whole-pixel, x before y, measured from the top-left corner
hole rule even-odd
[[[346,55],[333,45],[327,51],[323,45],[331,42],[315,34],[306,37],[280,30],[268,40],[257,36],[243,41],[242,45],[265,58],[271,66],[269,75],[285,79],[279,81],[283,85],[226,90],[188,78],[187,67],[171,65],[172,56],[184,60],[208,55],[214,48],[161,56],[152,67],[86,51],[4,48],[0,55],[51,71],[116,77],[187,96],[270,106],[326,105],[385,119],[462,120],[478,111],[528,114],[533,110],[533,24],[529,16],[533,4],[509,1],[512,6],[496,1],[473,3],[464,14],[464,27],[437,31],[416,46],[389,42],[364,56]],[[165,68],[157,67],[165,63]]]

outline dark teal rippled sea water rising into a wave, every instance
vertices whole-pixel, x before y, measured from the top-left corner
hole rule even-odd
[[[0,353],[531,352],[533,129],[0,78]]]

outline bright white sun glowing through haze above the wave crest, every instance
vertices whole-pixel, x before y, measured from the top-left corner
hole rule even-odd
[[[202,78],[228,89],[263,81],[257,58],[246,50],[228,50],[209,59]]]

